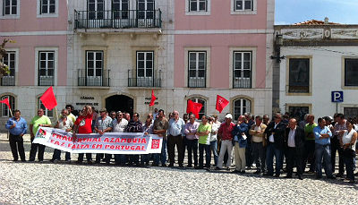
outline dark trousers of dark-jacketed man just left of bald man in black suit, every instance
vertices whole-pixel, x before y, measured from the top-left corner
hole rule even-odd
[[[277,149],[277,146],[274,143],[268,143],[266,150],[266,165],[268,167],[268,175],[274,174],[274,156],[276,158],[276,175],[280,175],[280,171],[283,165],[283,151],[282,149]]]

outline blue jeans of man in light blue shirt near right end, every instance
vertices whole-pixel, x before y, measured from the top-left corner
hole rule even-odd
[[[316,171],[317,176],[322,176],[322,158],[324,161],[324,168],[327,177],[332,176],[332,164],[330,157],[330,144],[321,145],[316,143],[315,145],[315,153],[316,153]]]

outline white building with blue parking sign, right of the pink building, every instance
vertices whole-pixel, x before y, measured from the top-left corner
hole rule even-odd
[[[277,109],[303,118],[358,115],[358,26],[324,21],[275,26],[279,96]],[[332,94],[335,92],[336,94]],[[339,93],[339,94],[338,94]],[[342,98],[339,97],[343,93]],[[332,96],[333,95],[333,96]],[[343,102],[332,102],[343,101]]]

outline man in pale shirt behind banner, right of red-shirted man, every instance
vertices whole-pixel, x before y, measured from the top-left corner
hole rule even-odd
[[[98,132],[100,135],[103,135],[105,132],[110,132],[112,130],[112,118],[107,115],[107,109],[102,108],[99,110],[98,118],[96,119],[95,123],[95,131]],[[106,154],[105,155],[106,164],[108,165],[112,155]],[[96,164],[100,163],[100,159],[103,157],[103,154],[98,153],[96,155]]]

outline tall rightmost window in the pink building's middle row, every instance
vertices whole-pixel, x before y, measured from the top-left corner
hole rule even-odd
[[[252,52],[234,51],[234,89],[251,88]]]

